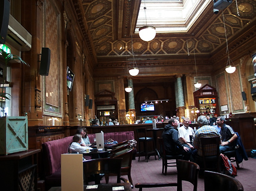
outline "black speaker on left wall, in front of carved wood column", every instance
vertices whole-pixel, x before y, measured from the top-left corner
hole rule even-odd
[[[39,74],[42,76],[49,75],[50,69],[51,50],[50,48],[42,48],[41,52],[41,64]]]

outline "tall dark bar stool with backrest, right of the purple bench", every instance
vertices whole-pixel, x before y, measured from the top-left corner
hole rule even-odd
[[[155,155],[156,160],[156,150],[155,150],[155,141],[153,137],[147,137],[146,128],[137,128],[137,140],[138,140],[138,161],[140,161],[140,155],[145,155],[146,161],[148,162],[150,154]],[[153,150],[147,150],[147,143],[152,142]],[[141,144],[143,143],[143,150],[141,150]]]

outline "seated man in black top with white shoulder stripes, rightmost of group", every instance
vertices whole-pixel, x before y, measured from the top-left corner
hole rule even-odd
[[[221,128],[221,146],[219,146],[220,153],[234,150],[234,147],[236,146],[234,142],[237,138],[237,135],[234,133],[233,128],[224,123],[225,121],[226,120],[224,116],[220,116],[216,120],[218,127]]]

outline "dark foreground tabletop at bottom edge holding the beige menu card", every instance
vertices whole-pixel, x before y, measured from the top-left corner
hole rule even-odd
[[[91,186],[91,185],[89,185]],[[112,184],[98,184],[97,189],[88,189],[88,185],[83,186],[83,190],[92,191],[112,191],[113,187],[124,186],[124,191],[132,191],[130,183],[112,183]],[[52,187],[49,191],[61,191],[61,187]]]

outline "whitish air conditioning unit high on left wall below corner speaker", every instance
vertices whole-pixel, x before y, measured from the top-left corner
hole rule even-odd
[[[6,40],[19,51],[31,50],[32,35],[11,15]]]

